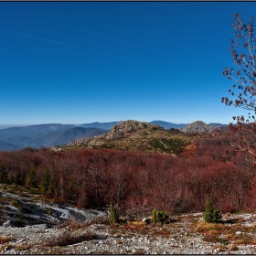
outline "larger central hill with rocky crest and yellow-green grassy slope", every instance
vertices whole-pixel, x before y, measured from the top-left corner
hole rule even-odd
[[[179,154],[193,138],[176,129],[128,120],[117,123],[107,134],[79,139],[64,148],[112,148],[130,151]]]

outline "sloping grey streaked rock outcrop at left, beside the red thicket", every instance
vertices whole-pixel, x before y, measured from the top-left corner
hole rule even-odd
[[[4,192],[1,188],[0,185],[1,198],[5,204],[0,209],[0,216],[2,214],[5,220],[3,223],[5,228],[19,228],[35,224],[55,226],[68,219],[83,222],[105,216],[105,212],[102,211],[79,209],[60,203],[53,204],[50,201],[44,202],[42,199],[35,200],[34,195],[28,192],[23,192],[23,196],[18,196]],[[14,202],[15,206],[13,206]],[[22,221],[20,220],[21,215],[23,216]]]

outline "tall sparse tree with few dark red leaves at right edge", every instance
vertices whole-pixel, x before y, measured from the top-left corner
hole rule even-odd
[[[231,98],[222,97],[221,101],[228,106],[235,106],[250,111],[248,118],[234,116],[235,124],[229,123],[229,142],[232,152],[226,152],[230,160],[236,159],[237,164],[256,165],[256,63],[255,37],[253,17],[247,23],[243,22],[240,14],[234,15],[232,24],[235,39],[231,39],[229,51],[236,68],[225,68],[223,75],[228,80],[234,80],[232,89],[229,89]]]

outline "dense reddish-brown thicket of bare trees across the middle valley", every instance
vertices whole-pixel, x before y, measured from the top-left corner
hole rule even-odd
[[[0,159],[13,183],[40,187],[48,197],[78,207],[104,208],[112,202],[132,218],[154,208],[171,214],[203,211],[207,197],[220,211],[254,209],[254,168],[223,160],[229,147],[223,137],[197,139],[195,145],[191,158],[110,149],[25,149],[0,152]],[[33,182],[31,170],[36,170]]]

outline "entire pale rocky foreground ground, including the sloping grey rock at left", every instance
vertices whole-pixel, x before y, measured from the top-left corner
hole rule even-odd
[[[171,216],[165,225],[110,225],[106,212],[78,209],[35,192],[0,186],[1,254],[256,253],[254,213],[223,214],[218,224],[191,213]]]

